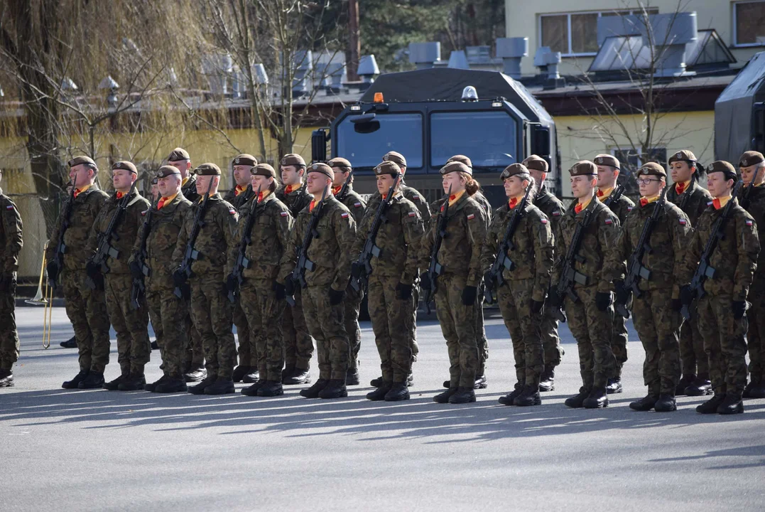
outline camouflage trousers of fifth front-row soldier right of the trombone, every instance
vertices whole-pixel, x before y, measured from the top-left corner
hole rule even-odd
[[[258,369],[261,379],[282,382],[282,368],[285,365],[282,315],[286,302],[276,299],[272,279],[246,279],[239,292],[239,299],[246,306],[243,309],[250,336],[255,340],[251,354],[256,364],[252,366]]]

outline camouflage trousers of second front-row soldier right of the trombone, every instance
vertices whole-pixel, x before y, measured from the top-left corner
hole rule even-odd
[[[148,308],[144,298],[140,307],[130,305],[133,278],[130,274],[106,274],[103,289],[106,311],[117,333],[117,362],[122,373],[142,374],[151,359],[148,339]]]

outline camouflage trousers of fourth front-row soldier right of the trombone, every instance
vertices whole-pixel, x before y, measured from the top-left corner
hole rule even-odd
[[[194,276],[190,311],[202,338],[207,377],[230,379],[236,364],[236,343],[231,330],[231,303],[223,288],[220,274]]]

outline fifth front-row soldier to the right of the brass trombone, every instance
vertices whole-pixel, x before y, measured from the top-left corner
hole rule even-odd
[[[259,380],[242,390],[247,396],[279,396],[282,390],[282,367],[284,366],[284,340],[282,338],[282,313],[285,308],[284,286],[277,284],[279,260],[287,246],[292,229],[289,208],[279,201],[276,190],[276,171],[268,164],[258,164],[250,169],[252,190],[260,191],[239,207],[239,224],[236,240],[249,236],[246,258],[251,264],[243,269],[244,281],[239,285],[239,300],[243,306],[250,332],[255,337],[255,354],[258,360]],[[258,206],[252,210],[253,201]],[[249,217],[256,216],[249,233],[245,233]],[[229,253],[229,269],[236,264],[239,243]],[[229,275],[229,282],[234,279]],[[282,279],[283,281],[283,279]]]

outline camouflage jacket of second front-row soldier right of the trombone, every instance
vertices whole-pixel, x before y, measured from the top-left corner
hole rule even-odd
[[[96,217],[96,221],[93,223],[93,228],[90,230],[87,245],[89,257],[96,253],[99,236],[106,233],[112,217],[119,208],[120,202],[122,202],[122,199],[117,199],[116,193],[110,195],[104,201],[103,208],[99,211],[98,217]],[[150,207],[151,204],[146,201],[145,197],[138,194],[138,191],[134,191],[132,196],[130,196],[128,209],[125,210],[125,214],[114,227],[112,234],[111,244],[112,247],[117,249],[119,256],[117,256],[117,259],[106,256],[106,266],[109,267],[109,274],[130,273],[128,261],[132,255],[135,236],[138,235],[138,230],[143,225],[144,214]]]

